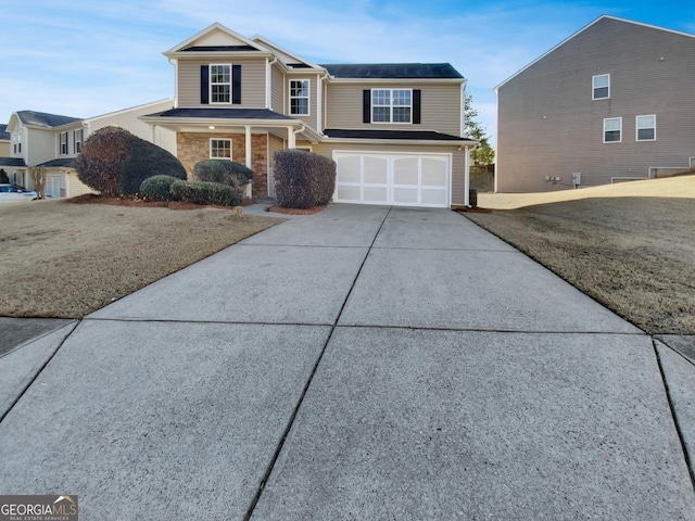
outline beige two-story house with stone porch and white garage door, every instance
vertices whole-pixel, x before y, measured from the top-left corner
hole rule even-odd
[[[464,77],[450,64],[319,65],[220,24],[164,52],[172,110],[142,120],[176,132],[189,174],[207,158],[253,170],[274,195],[273,155],[304,149],[338,165],[336,202],[450,207],[468,203]]]

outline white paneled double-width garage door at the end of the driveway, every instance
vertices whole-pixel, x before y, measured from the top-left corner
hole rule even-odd
[[[451,156],[333,152],[337,203],[450,206]]]

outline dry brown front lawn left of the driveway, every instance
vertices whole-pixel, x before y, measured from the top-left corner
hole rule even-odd
[[[83,317],[281,220],[213,207],[0,204],[0,316]]]

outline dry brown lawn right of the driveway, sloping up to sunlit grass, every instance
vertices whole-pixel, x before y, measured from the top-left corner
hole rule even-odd
[[[695,176],[484,194],[465,215],[650,334],[695,334]]]

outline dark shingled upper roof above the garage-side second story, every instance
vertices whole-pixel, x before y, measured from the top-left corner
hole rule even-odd
[[[372,63],[321,65],[336,78],[463,79],[450,63]]]

